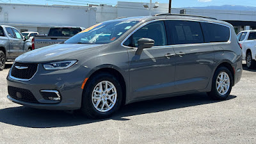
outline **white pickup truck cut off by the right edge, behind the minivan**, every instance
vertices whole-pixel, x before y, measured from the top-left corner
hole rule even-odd
[[[241,44],[243,60],[246,60],[247,68],[256,66],[256,30],[241,31],[237,34],[237,40]]]

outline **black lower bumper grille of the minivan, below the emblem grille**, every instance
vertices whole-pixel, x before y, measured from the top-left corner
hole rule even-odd
[[[34,97],[33,93],[23,88],[8,86],[8,93],[13,99],[22,100],[25,102],[39,103]]]

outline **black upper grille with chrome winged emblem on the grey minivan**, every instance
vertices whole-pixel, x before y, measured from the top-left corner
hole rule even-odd
[[[16,68],[15,66],[20,67]],[[17,63],[15,62],[12,67],[11,76],[19,79],[31,79],[36,73],[38,64],[36,63]],[[23,68],[22,68],[23,67]]]

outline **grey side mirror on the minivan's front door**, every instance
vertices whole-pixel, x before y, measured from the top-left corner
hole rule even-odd
[[[143,49],[153,47],[155,41],[150,38],[140,38],[138,40],[138,49],[135,54],[140,55]]]

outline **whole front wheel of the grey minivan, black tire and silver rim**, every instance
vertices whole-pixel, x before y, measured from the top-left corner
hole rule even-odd
[[[101,82],[103,83],[102,83],[102,89],[100,91]],[[113,87],[107,93],[105,92],[106,82],[107,82],[108,88],[110,88],[111,86]],[[102,94],[102,90],[103,90],[103,94]],[[96,76],[93,76],[92,79],[89,79],[87,81],[83,91],[83,99],[82,99],[82,106],[81,106],[81,112],[84,115],[88,116],[89,118],[108,118],[120,108],[121,104],[122,104],[122,87],[116,77],[108,73],[102,73],[102,74],[97,74]],[[107,107],[107,105],[109,107]]]

